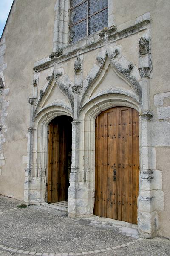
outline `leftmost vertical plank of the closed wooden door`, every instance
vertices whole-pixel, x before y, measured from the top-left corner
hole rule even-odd
[[[95,121],[95,203],[94,203],[94,215],[97,216],[97,204],[98,204],[98,189],[97,189],[97,176],[98,176],[98,116]]]

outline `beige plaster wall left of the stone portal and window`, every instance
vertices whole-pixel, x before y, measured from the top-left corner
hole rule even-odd
[[[5,86],[10,88],[6,117],[6,143],[3,143],[5,166],[0,176],[0,193],[23,200],[27,155],[26,133],[29,127],[34,62],[50,55],[56,0],[18,0],[11,15],[5,43]]]

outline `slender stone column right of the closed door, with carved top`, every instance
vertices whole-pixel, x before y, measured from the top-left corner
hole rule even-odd
[[[139,72],[142,79],[142,134],[141,134],[141,166],[139,175],[138,228],[141,237],[155,236],[157,213],[154,206],[152,190],[153,169],[155,166],[155,148],[150,146],[150,76],[152,75],[150,38],[139,40]]]

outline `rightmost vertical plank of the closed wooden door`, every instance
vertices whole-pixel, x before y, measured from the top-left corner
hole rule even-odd
[[[139,114],[133,109],[133,223],[137,224],[137,198],[139,193]]]

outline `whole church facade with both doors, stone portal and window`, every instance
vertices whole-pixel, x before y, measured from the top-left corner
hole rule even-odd
[[[170,3],[14,0],[0,39],[0,193],[170,238]]]

